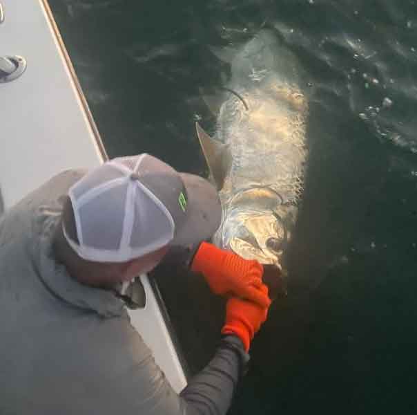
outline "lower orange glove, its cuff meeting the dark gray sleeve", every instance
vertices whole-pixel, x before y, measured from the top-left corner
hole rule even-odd
[[[261,291],[268,295],[268,288],[262,284]],[[260,307],[246,299],[231,297],[226,305],[226,323],[222,334],[235,334],[242,340],[244,349],[249,351],[251,340],[266,320],[269,307]]]

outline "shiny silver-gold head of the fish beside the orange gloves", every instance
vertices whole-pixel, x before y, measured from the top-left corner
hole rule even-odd
[[[224,210],[221,245],[245,259],[280,267],[287,230],[277,213],[280,196],[267,187],[235,195]]]

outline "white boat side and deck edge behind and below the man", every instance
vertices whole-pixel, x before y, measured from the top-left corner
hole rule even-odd
[[[108,159],[47,0],[0,0],[0,215],[65,169]],[[130,322],[175,391],[186,386],[157,285],[147,275]]]

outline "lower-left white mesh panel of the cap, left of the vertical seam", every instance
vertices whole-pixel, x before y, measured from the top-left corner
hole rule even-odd
[[[81,205],[79,220],[84,246],[98,250],[119,250],[127,188],[128,182],[125,181],[109,187]]]

